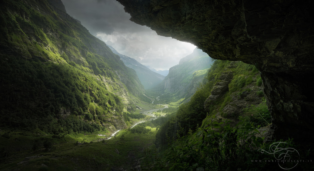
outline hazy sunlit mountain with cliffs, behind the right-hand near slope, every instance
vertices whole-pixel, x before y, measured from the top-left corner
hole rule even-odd
[[[169,69],[169,74],[154,91],[160,92],[164,100],[188,98],[202,82],[210,64],[212,60],[206,53],[194,49],[192,54],[180,60],[179,65]]]

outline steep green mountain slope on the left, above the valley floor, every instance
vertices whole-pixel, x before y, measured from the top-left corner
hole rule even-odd
[[[144,92],[134,70],[61,0],[0,6],[1,127],[55,134],[126,127],[122,112],[135,109],[130,93]]]

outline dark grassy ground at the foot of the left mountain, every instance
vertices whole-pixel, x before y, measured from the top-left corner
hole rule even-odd
[[[149,134],[132,134],[124,130],[109,140],[84,144],[76,143],[78,139],[76,137],[84,137],[86,141],[101,137],[77,134],[56,139],[51,136],[38,135],[35,132],[33,134],[20,132],[18,135],[12,132],[10,138],[0,137],[1,146],[8,146],[10,143],[12,147],[1,149],[1,154],[6,157],[2,160],[0,169],[111,170],[112,168],[132,168],[137,165],[139,158],[144,157],[144,150],[152,148],[155,132],[155,128]],[[49,148],[43,146],[46,140],[52,143]],[[23,149],[13,148],[22,146]],[[31,156],[36,157],[26,158]]]

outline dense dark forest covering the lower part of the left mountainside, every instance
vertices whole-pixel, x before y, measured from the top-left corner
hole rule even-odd
[[[2,84],[1,126],[57,133],[61,127],[68,132],[93,132],[63,125],[73,115],[81,120],[102,123],[102,116],[123,111],[121,98],[110,93],[95,77],[71,66],[41,61],[1,59]],[[71,122],[74,122],[71,121]],[[60,125],[58,127],[57,125]],[[98,126],[99,127],[99,126]]]

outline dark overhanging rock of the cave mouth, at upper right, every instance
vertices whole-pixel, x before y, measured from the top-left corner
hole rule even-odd
[[[119,2],[132,21],[159,35],[191,42],[215,59],[255,65],[273,118],[270,137],[312,135],[313,1]]]

